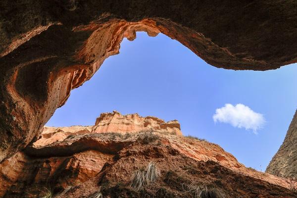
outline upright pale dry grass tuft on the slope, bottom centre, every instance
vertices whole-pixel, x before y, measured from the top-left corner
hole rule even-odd
[[[160,177],[160,171],[155,163],[149,162],[147,169],[139,169],[132,176],[130,186],[139,191],[147,184],[154,183]]]

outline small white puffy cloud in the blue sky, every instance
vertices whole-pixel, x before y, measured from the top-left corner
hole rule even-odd
[[[225,106],[215,110],[212,118],[215,123],[229,123],[233,127],[251,129],[254,133],[257,133],[257,130],[262,128],[265,123],[262,114],[254,112],[244,104],[236,104],[235,106],[225,104]]]

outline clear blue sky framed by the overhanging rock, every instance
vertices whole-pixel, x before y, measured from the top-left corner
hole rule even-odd
[[[264,171],[282,144],[297,108],[297,65],[270,71],[234,71],[208,65],[163,34],[124,39],[94,77],[72,90],[47,126],[94,125],[101,112],[177,119],[184,135],[216,143],[247,167]],[[242,103],[263,114],[252,130],[214,122],[217,108]]]

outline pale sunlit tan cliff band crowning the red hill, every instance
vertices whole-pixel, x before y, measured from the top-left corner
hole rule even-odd
[[[34,146],[47,146],[53,142],[63,141],[67,137],[90,133],[136,133],[143,130],[154,130],[168,134],[182,135],[180,123],[177,120],[165,122],[164,120],[147,116],[142,117],[137,113],[122,115],[117,111],[101,113],[94,126],[71,127],[44,127],[41,139]]]

